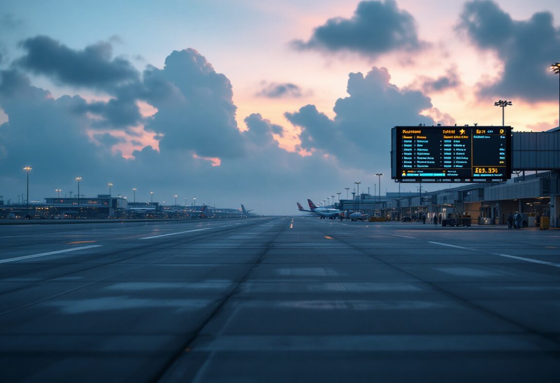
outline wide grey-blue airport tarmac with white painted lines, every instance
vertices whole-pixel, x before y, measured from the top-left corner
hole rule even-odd
[[[557,382],[560,231],[0,226],[2,381]]]

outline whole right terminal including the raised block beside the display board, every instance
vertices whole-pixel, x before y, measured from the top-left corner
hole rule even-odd
[[[544,216],[550,217],[550,227],[560,227],[560,129],[513,133],[511,146],[511,169],[516,174],[511,180],[436,192],[361,194],[335,206],[389,219],[426,214],[429,221],[434,215],[463,214],[483,225],[505,224],[510,213],[519,212],[527,226]]]

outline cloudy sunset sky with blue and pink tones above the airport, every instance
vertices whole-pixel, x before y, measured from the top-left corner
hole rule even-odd
[[[396,125],[558,126],[556,1],[0,0],[0,195],[293,214],[395,192]],[[416,192],[416,184],[402,191]],[[445,184],[423,185],[424,190]],[[21,197],[20,197],[21,200]]]

